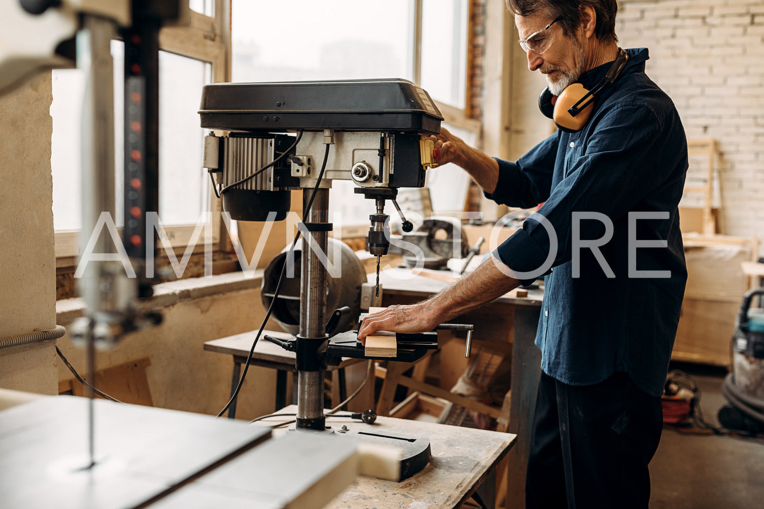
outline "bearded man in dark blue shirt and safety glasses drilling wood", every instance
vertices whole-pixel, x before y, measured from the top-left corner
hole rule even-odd
[[[591,89],[620,53],[615,0],[507,4],[529,69],[545,74],[554,95],[575,82]],[[626,53],[580,131],[558,131],[515,163],[442,131],[436,157],[465,168],[486,196],[543,206],[468,277],[423,303],[370,316],[358,334],[430,330],[530,282],[549,257],[527,507],[649,501],[686,281],[677,206],[687,145],[674,105],[644,73],[647,50]]]

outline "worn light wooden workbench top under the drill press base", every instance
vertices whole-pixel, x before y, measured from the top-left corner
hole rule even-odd
[[[296,405],[290,405],[279,413],[295,413],[296,408]],[[267,426],[292,419],[269,417],[255,424]],[[448,509],[460,507],[475,492],[478,492],[486,507],[494,507],[496,466],[507,456],[517,438],[511,433],[394,417],[377,417],[371,425],[350,417],[329,417],[326,425],[332,426],[332,430],[345,425],[351,430],[370,433],[424,436],[430,441],[432,456],[422,472],[401,482],[381,481],[359,475],[350,487],[326,504],[325,509]],[[277,428],[273,433],[279,436],[280,433],[286,433],[286,430]]]

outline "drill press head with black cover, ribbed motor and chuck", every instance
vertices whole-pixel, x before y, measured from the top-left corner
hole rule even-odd
[[[321,186],[350,180],[378,199],[377,215],[384,215],[379,199],[424,186],[433,164],[427,137],[443,119],[427,92],[405,79],[217,83],[204,87],[199,115],[202,128],[232,131],[208,137],[205,167],[223,186],[223,209],[251,221],[268,212],[283,219],[289,191],[316,185],[327,142],[334,148]],[[292,146],[294,132],[300,138]],[[375,239],[384,222],[371,219]]]

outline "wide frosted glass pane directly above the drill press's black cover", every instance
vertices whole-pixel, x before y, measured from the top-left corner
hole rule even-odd
[[[413,79],[413,0],[233,0],[235,82]]]

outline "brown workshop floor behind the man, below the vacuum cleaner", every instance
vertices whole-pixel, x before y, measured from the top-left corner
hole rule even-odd
[[[724,372],[677,365],[701,390],[705,420],[718,425]],[[663,430],[650,463],[651,509],[764,507],[764,443],[727,436],[693,436]]]

